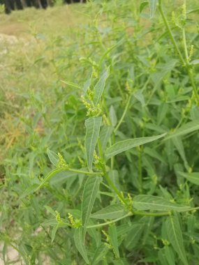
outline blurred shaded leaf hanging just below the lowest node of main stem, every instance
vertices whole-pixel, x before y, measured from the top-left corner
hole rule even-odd
[[[145,224],[142,223],[134,223],[131,227],[131,230],[128,232],[128,235],[125,239],[126,248],[131,251],[138,244],[140,236],[143,232]]]

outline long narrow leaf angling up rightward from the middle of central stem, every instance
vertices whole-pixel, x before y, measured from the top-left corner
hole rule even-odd
[[[128,149],[131,149],[135,146],[140,146],[142,144],[147,144],[149,142],[153,142],[156,139],[159,139],[161,137],[164,137],[166,133],[163,133],[162,135],[156,135],[152,137],[142,137],[142,138],[135,138],[135,139],[127,139],[121,142],[117,142],[116,144],[113,144],[105,151],[105,158],[109,159],[112,158],[112,156],[116,156],[118,153],[122,153],[124,151],[127,151]]]

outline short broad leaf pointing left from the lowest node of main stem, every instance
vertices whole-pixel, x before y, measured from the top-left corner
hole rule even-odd
[[[121,204],[113,204],[91,214],[91,218],[95,219],[117,219],[125,215],[124,206]]]

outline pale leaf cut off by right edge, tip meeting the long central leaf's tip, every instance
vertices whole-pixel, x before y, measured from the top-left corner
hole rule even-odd
[[[189,123],[182,125],[177,130],[168,135],[165,140],[172,137],[179,137],[180,135],[188,135],[189,133],[195,132],[196,130],[199,130],[199,120],[190,121]]]

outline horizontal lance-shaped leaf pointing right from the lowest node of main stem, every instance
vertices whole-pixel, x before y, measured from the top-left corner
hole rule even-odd
[[[186,211],[189,206],[169,202],[168,200],[152,195],[138,195],[133,198],[133,207],[137,210],[154,211]]]

